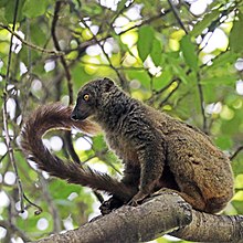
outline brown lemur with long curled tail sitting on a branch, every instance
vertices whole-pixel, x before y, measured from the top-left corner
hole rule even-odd
[[[63,162],[42,144],[51,128],[93,133],[96,124],[125,163],[122,181]],[[129,97],[109,78],[84,85],[72,115],[60,104],[40,107],[25,123],[21,145],[51,175],[113,194],[104,212],[123,203],[136,205],[161,188],[178,191],[194,209],[209,213],[221,211],[233,196],[230,160],[207,135]]]

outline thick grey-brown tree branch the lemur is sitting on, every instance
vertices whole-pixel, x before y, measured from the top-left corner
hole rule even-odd
[[[198,212],[177,193],[162,191],[141,205],[124,205],[80,229],[39,243],[146,242],[166,233],[197,242],[243,243],[243,216]]]

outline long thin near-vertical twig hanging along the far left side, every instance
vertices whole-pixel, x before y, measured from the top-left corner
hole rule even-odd
[[[15,22],[17,22],[17,14],[18,14],[18,8],[19,8],[19,0],[17,0],[15,2],[15,7],[14,7],[14,15],[13,15],[13,27],[12,27],[12,31],[14,32],[15,30]],[[11,39],[10,39],[10,46],[9,46],[9,59],[8,59],[8,64],[7,64],[7,74],[6,74],[6,87],[4,87],[4,93],[3,93],[3,129],[6,133],[6,146],[8,148],[8,152],[9,152],[9,158],[10,161],[12,163],[13,170],[15,172],[15,177],[17,177],[17,186],[18,186],[18,190],[19,190],[19,198],[20,198],[20,211],[23,212],[24,211],[24,204],[23,204],[23,188],[22,188],[22,183],[18,173],[18,168],[17,168],[17,163],[15,163],[15,158],[14,158],[14,154],[13,154],[13,148],[11,145],[11,137],[9,135],[9,128],[8,128],[8,113],[7,113],[7,101],[8,101],[8,85],[9,85],[9,74],[10,74],[10,65],[11,65],[11,57],[12,57],[12,40],[13,40],[13,34],[11,34]]]

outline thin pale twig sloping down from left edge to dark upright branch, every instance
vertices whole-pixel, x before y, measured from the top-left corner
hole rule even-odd
[[[15,31],[11,30],[9,27],[6,27],[3,25],[2,23],[0,23],[0,28],[9,31],[12,36],[14,35],[17,39],[19,39],[23,44],[25,44],[27,46],[31,47],[31,49],[34,49],[39,52],[42,52],[42,53],[46,53],[46,54],[51,54],[51,55],[55,55],[55,56],[62,56],[64,55],[65,53],[64,52],[56,52],[56,51],[52,51],[52,50],[46,50],[46,49],[42,49],[38,45],[34,45],[32,44],[31,42],[28,42],[25,41],[24,39],[22,39]]]

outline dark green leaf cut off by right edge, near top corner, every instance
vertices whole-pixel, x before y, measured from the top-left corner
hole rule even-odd
[[[241,40],[243,40],[243,14],[239,17],[237,21],[234,21],[234,25],[230,33],[230,47],[233,52],[239,53],[243,51]]]

